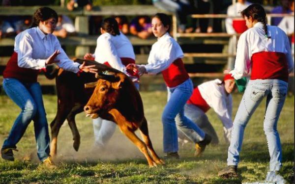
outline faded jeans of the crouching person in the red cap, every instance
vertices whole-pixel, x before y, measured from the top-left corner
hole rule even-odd
[[[197,129],[189,129],[188,127],[183,127],[181,130],[177,130],[178,137],[180,139],[189,139],[190,141],[197,143],[203,140],[204,132],[212,137],[212,143],[218,144],[218,136],[208,120],[205,112],[198,106],[193,104],[184,105],[184,115],[190,119],[197,126]],[[176,119],[176,122],[178,118]],[[187,138],[186,138],[187,137]]]

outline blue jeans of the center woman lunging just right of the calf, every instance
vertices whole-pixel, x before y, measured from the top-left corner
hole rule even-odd
[[[193,83],[187,79],[176,87],[168,87],[168,102],[162,114],[164,152],[177,152],[177,128],[184,131],[200,131],[191,120],[184,116],[184,105],[193,92]],[[175,121],[175,119],[179,120]],[[193,130],[190,130],[193,129]],[[205,133],[201,134],[202,140]]]

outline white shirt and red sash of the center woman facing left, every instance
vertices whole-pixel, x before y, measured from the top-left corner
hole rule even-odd
[[[189,79],[182,62],[183,52],[179,44],[165,33],[151,47],[148,64],[145,66],[148,73],[162,72],[168,87],[176,87]]]

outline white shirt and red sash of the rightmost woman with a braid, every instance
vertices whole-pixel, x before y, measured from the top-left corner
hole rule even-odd
[[[286,33],[277,26],[256,23],[241,34],[236,51],[235,69],[230,74],[241,79],[251,72],[251,79],[281,79],[288,81],[294,63]]]

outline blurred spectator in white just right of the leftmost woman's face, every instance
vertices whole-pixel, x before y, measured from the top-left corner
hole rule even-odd
[[[75,33],[75,26],[73,21],[66,15],[59,15],[57,27],[53,32],[54,35],[65,38],[68,34]]]

